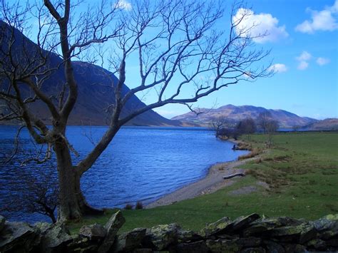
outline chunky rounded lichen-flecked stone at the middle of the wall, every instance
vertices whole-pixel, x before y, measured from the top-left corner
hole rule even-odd
[[[147,247],[163,250],[170,244],[177,242],[178,230],[180,230],[180,227],[175,223],[152,227],[147,229],[143,243]]]

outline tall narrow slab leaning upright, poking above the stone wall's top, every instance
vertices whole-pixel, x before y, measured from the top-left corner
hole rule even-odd
[[[103,239],[101,246],[98,248],[99,253],[106,253],[109,249],[111,249],[115,241],[118,229],[122,227],[124,222],[126,222],[126,220],[124,219],[121,211],[118,211],[114,215],[112,215],[112,217],[105,225],[107,234],[105,239]]]

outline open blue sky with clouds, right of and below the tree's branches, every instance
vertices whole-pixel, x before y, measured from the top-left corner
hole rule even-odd
[[[256,0],[252,20],[270,35],[274,76],[225,88],[196,105],[255,105],[317,119],[338,117],[338,0]],[[250,22],[248,21],[248,22]],[[165,117],[188,112],[180,105],[156,111]]]

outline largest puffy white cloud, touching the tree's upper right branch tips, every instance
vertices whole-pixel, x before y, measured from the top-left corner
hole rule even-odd
[[[242,33],[243,36],[254,37],[252,40],[256,43],[279,41],[281,38],[289,36],[285,31],[285,26],[278,26],[278,19],[271,14],[255,14],[250,9],[240,8],[232,17],[232,21],[240,21],[236,27],[237,34]]]

